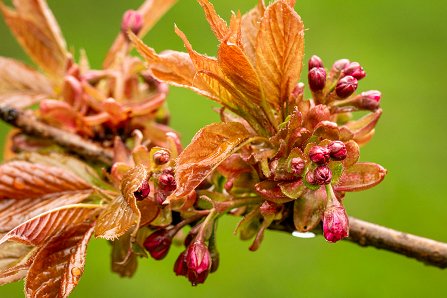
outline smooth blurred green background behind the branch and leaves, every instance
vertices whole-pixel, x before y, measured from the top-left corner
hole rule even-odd
[[[142,0],[50,0],[70,47],[85,48],[99,67],[127,8]],[[218,12],[247,11],[256,0],[214,0]],[[326,66],[340,58],[359,61],[368,76],[361,90],[383,92],[384,115],[361,159],[389,170],[378,187],[348,194],[350,215],[402,231],[447,241],[447,1],[298,0],[304,20],[306,60],[318,54]],[[217,41],[194,0],[179,3],[145,38],[157,50],[182,50],[174,22],[202,53]],[[0,22],[0,55],[27,58]],[[305,77],[303,76],[303,79]],[[200,127],[217,121],[213,104],[172,88],[172,125],[185,144]],[[1,135],[7,131],[0,126]],[[0,140],[1,142],[3,141]],[[109,270],[110,248],[92,241],[86,272],[73,297],[447,297],[447,273],[374,248],[329,244],[322,237],[298,239],[270,232],[256,253],[232,234],[233,218],[220,224],[219,270],[191,287],[175,277],[174,247],[166,260],[141,260],[132,279]],[[22,283],[0,288],[0,297],[22,297]]]

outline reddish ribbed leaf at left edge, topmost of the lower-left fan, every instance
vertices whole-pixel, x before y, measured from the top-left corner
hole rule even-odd
[[[0,198],[30,199],[85,189],[91,186],[60,168],[26,161],[11,161],[0,166]]]

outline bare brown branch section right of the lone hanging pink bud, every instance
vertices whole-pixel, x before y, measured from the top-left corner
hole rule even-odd
[[[447,268],[447,243],[399,232],[349,217],[349,238],[360,246],[373,246],[414,258],[427,265]]]

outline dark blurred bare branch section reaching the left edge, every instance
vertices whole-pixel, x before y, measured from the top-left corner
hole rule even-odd
[[[89,160],[97,160],[108,165],[112,164],[113,152],[99,144],[85,140],[80,136],[47,125],[39,121],[31,111],[21,111],[9,106],[0,105],[0,118],[20,128],[24,133],[51,139],[56,144]]]

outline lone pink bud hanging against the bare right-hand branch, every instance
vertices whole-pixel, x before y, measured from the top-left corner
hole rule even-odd
[[[323,234],[327,241],[334,243],[347,237],[349,234],[348,215],[345,208],[338,201],[324,211]]]

